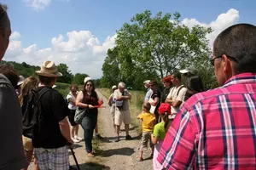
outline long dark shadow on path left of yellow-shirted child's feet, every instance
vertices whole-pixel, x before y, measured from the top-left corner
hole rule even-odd
[[[134,153],[134,149],[125,147],[113,150],[101,150],[102,157],[108,157],[113,155],[120,155],[120,156],[131,156]]]

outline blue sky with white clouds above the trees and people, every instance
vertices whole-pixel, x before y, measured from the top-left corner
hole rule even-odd
[[[12,35],[4,60],[42,65],[65,63],[73,74],[102,77],[108,48],[125,22],[144,10],[181,14],[184,25],[212,27],[218,33],[237,23],[256,24],[251,0],[2,0],[9,6]]]

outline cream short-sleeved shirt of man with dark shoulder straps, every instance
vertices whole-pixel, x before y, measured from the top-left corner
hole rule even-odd
[[[176,114],[181,108],[181,106],[183,105],[186,92],[187,92],[187,88],[185,88],[183,85],[178,87],[173,87],[170,89],[170,93],[168,94],[167,99],[173,99],[173,100],[178,100],[182,102],[182,104],[178,108],[172,107],[172,114]]]

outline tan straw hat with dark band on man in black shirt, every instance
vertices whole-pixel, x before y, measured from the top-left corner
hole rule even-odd
[[[36,71],[36,73],[43,77],[62,77],[61,72],[58,71],[58,67],[52,61],[45,61],[40,71]]]

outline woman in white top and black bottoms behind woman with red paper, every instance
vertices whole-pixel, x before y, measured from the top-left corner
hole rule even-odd
[[[76,104],[76,99],[78,96],[78,91],[79,88],[77,85],[72,84],[70,86],[70,92],[69,94],[67,94],[67,101],[68,101],[68,109],[69,109],[69,115],[68,115],[68,120],[72,126],[71,129],[71,138],[73,139],[73,142],[79,142],[80,140],[82,140],[81,138],[79,138],[78,133],[79,133],[79,124],[77,124],[76,122],[74,122],[74,115],[77,109]]]

